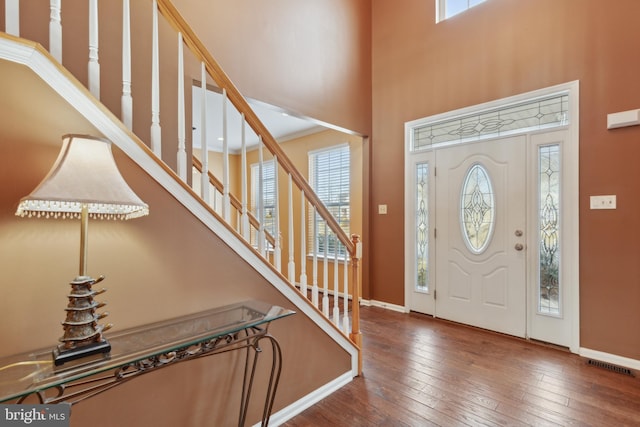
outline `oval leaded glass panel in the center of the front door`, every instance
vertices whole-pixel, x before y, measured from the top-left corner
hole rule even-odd
[[[489,245],[495,222],[495,197],[487,170],[476,163],[469,168],[460,192],[460,227],[471,252]]]

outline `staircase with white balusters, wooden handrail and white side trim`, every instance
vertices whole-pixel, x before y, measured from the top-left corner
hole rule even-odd
[[[109,3],[111,10],[113,4]],[[154,0],[151,7],[148,3],[123,0],[119,5],[122,13],[117,18],[122,19],[122,25],[117,27],[122,32],[118,37],[113,37],[113,43],[109,43],[109,49],[114,45],[121,46],[122,73],[119,75],[112,73],[117,67],[100,59],[98,34],[101,36],[100,40],[104,40],[105,33],[110,39],[115,36],[112,30],[116,16],[110,13],[99,16],[97,0],[88,2],[89,46],[86,50],[89,55],[86,74],[84,70],[74,72],[65,68],[61,18],[63,10],[60,0],[52,0],[47,8],[50,18],[49,39],[34,41],[22,38],[16,24],[20,22],[20,2],[6,0],[6,33],[0,33],[0,59],[28,66],[78,111],[82,111],[104,136],[179,203],[190,209],[194,216],[224,240],[238,256],[267,278],[298,311],[305,313],[332,340],[351,354],[352,375],[359,375],[362,369],[358,309],[361,252],[359,237],[344,233],[307,179],[288,158],[174,5],[168,0]],[[135,37],[132,40],[132,11],[136,12],[136,16],[148,16],[151,23],[149,51],[140,49],[140,45],[146,43],[136,42]],[[64,22],[65,33],[73,33],[75,21]],[[98,28],[101,31],[105,28],[107,30],[99,33]],[[48,50],[42,48],[42,45],[47,45]],[[167,57],[175,58],[175,62],[174,59],[168,61],[171,66],[167,65]],[[143,69],[150,74],[140,78],[140,70]],[[76,73],[77,76],[74,75]],[[81,80],[86,81],[80,83]],[[150,96],[145,97],[145,90],[139,90],[141,97],[136,92],[134,98],[132,81],[149,82]],[[242,117],[240,126],[243,135],[252,133],[260,140],[257,149],[261,153],[261,161],[264,160],[263,157],[272,159],[276,170],[280,171],[276,176],[286,177],[286,183],[276,186],[277,192],[283,192],[283,196],[276,196],[276,200],[285,197],[285,192],[281,189],[286,189],[287,204],[284,208],[276,209],[275,233],[270,234],[265,229],[264,218],[251,213],[247,200],[245,141],[242,141],[243,173],[239,196],[230,190],[234,186],[230,182],[230,153],[226,144],[222,154],[223,172],[219,177],[214,176],[209,168],[207,149],[194,150],[189,131],[192,88],[185,85],[185,82],[190,81],[200,83],[200,96],[203,98],[209,90],[221,93],[223,109],[234,109]],[[141,85],[142,83],[135,83],[134,87],[139,89]],[[114,88],[119,88],[119,102],[114,102]],[[167,93],[175,102],[164,101],[169,97]],[[139,117],[150,118],[148,127],[140,126],[139,123],[143,120]],[[173,118],[165,124],[161,122],[161,118],[166,117]],[[238,124],[228,123],[223,119],[224,128],[236,125]],[[201,147],[207,147],[206,140],[203,142]],[[199,158],[194,155],[198,151]],[[194,177],[197,177],[197,182],[194,182]],[[258,195],[261,196],[263,195]],[[216,202],[218,200],[221,202]],[[332,256],[317,253],[316,250],[308,253],[309,248],[315,247],[309,244],[309,218],[318,218],[317,221],[322,223],[322,227],[314,229],[329,230],[322,235],[316,234],[311,239],[326,239],[322,245],[325,251],[329,247],[326,242],[329,239],[335,240],[337,245],[344,248],[346,256]],[[334,252],[339,253],[337,249]],[[282,254],[288,255],[286,271],[282,265]],[[307,271],[311,273],[308,274]]]

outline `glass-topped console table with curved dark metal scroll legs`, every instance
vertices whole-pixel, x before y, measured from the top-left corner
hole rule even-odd
[[[273,361],[262,425],[269,423],[282,353],[269,324],[294,311],[261,301],[245,301],[201,313],[108,334],[111,352],[54,366],[51,348],[0,358],[0,402],[78,403],[144,373],[199,357],[246,350],[238,425],[246,421],[260,342],[267,340]]]

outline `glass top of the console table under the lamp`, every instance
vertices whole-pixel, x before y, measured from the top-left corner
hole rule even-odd
[[[261,301],[244,301],[200,313],[105,334],[111,352],[55,366],[53,347],[0,358],[0,402],[87,376],[266,325],[295,312]]]

